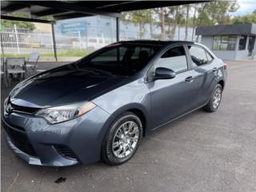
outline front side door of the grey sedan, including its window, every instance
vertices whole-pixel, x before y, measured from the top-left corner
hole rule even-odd
[[[158,79],[148,83],[151,92],[152,127],[158,127],[192,110],[198,96],[198,83],[194,82],[185,46],[175,46],[166,50],[150,69],[151,75],[157,67],[174,70],[176,77]]]

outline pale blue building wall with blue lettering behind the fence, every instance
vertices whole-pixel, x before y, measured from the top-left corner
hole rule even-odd
[[[166,25],[166,40],[168,38],[168,30],[173,26]],[[151,31],[150,31],[151,28]],[[116,20],[112,17],[106,17],[96,15],[85,18],[70,18],[64,20],[58,20],[54,26],[56,34],[73,34],[78,35],[78,32],[82,37],[91,38],[116,38]],[[187,40],[192,39],[193,28],[189,27],[189,37]],[[139,26],[131,21],[120,21],[120,39],[132,40],[132,39],[158,39],[160,38],[161,29],[158,25],[149,23],[142,23],[142,33],[140,34]],[[174,34],[174,40],[185,39],[185,27],[177,26]]]

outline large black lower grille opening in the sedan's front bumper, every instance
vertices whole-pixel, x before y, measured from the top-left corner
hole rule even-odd
[[[19,150],[22,152],[29,154],[31,156],[37,157],[38,154],[34,151],[33,146],[30,143],[29,138],[26,136],[26,131],[20,130],[18,127],[8,127],[5,122],[2,123],[4,125],[4,129],[10,137],[11,142],[14,143]]]

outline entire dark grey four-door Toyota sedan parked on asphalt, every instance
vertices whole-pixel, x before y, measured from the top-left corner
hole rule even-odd
[[[14,87],[2,117],[6,142],[34,165],[122,164],[151,130],[201,107],[217,110],[226,68],[194,42],[110,44]]]

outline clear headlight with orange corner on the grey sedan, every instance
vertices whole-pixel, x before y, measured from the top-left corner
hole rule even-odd
[[[46,118],[51,124],[66,122],[72,118],[77,118],[94,109],[93,102],[75,103],[66,106],[55,106],[39,110],[35,115]]]

